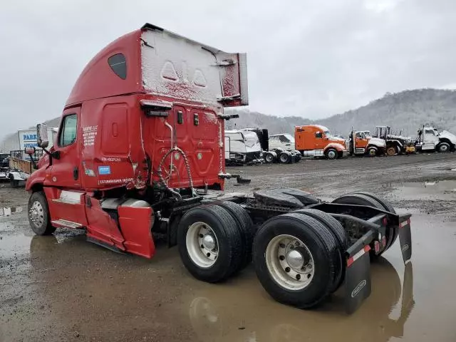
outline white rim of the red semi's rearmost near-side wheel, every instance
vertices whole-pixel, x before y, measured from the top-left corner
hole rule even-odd
[[[284,289],[298,291],[311,284],[315,274],[314,258],[300,239],[282,234],[266,247],[266,266],[272,279]]]

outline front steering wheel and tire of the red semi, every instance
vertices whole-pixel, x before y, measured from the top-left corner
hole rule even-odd
[[[52,227],[48,201],[44,192],[33,192],[28,199],[28,222],[36,235],[49,235],[56,231]]]

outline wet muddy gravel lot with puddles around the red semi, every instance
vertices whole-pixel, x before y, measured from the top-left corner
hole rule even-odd
[[[24,189],[0,185],[0,341],[456,341],[456,153],[230,167],[252,179],[228,192],[296,187],[322,199],[356,190],[413,217],[413,258],[399,244],[373,264],[355,314],[341,294],[304,311],[276,303],[249,266],[224,284],[187,273],[177,249],[142,259],[58,229],[36,237]],[[4,214],[0,210],[0,214]],[[9,214],[9,210],[6,210]]]

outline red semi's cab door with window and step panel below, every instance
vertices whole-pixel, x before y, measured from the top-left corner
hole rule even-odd
[[[53,224],[63,227],[87,225],[85,192],[81,189],[81,108],[63,112],[56,144],[53,146],[51,182],[45,188]]]

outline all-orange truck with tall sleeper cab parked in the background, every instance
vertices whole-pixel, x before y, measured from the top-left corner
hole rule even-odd
[[[348,154],[346,141],[334,137],[325,126],[296,126],[294,140],[296,150],[299,150],[304,157],[336,159]]]

